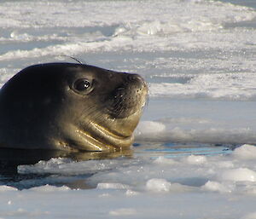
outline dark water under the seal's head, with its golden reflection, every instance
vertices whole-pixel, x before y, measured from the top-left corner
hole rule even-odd
[[[125,150],[122,152],[108,153],[108,152],[76,152],[69,153],[59,150],[22,150],[22,149],[0,149],[0,185],[9,185],[19,189],[43,186],[51,184],[45,180],[50,174],[20,174],[17,171],[18,165],[22,164],[36,164],[40,160],[49,160],[50,158],[71,158],[74,161],[86,161],[91,159],[110,159],[132,157],[132,150]],[[63,182],[53,182],[52,185],[63,186],[66,185],[72,188],[90,188],[84,180],[92,174],[81,177],[71,177],[67,181],[67,177]],[[59,175],[61,177],[61,174]],[[23,182],[26,181],[26,185]],[[28,183],[31,181],[32,183]]]

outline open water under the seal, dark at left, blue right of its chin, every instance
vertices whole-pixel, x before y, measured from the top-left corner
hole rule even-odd
[[[183,156],[205,155],[214,156],[218,154],[229,154],[234,146],[191,144],[191,143],[134,143],[132,150],[120,153],[66,153],[53,150],[20,150],[20,149],[0,149],[0,185],[26,189],[30,187],[44,186],[67,186],[71,188],[92,188],[86,185],[86,179],[96,172],[81,175],[49,174],[49,173],[20,173],[17,167],[22,164],[36,164],[40,160],[50,158],[70,158],[73,161],[86,161],[92,159],[130,159],[149,158],[154,159],[160,156],[165,158],[178,158]]]

